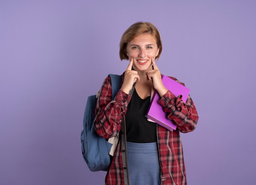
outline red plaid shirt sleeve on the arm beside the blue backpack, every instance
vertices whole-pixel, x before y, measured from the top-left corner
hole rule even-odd
[[[104,80],[95,109],[94,126],[97,134],[103,138],[111,138],[119,133],[130,99],[130,95],[119,89],[112,100],[111,78],[108,76]]]

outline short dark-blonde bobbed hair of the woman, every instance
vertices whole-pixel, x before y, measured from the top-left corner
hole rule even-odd
[[[119,49],[119,56],[121,60],[129,60],[126,54],[126,47],[128,42],[143,33],[150,33],[155,38],[157,42],[157,48],[159,48],[159,53],[156,56],[156,59],[160,57],[162,52],[162,41],[157,28],[150,22],[136,22],[135,24],[131,25],[121,37]]]

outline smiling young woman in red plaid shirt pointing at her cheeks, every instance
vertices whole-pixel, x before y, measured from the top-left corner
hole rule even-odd
[[[121,88],[112,100],[107,77],[95,110],[97,134],[106,139],[119,134],[106,185],[186,185],[180,132],[193,131],[198,114],[190,96],[185,103],[164,87],[155,63],[161,52],[159,31],[149,22],[131,25],[121,38],[120,59],[130,61],[121,75]],[[173,132],[145,117],[152,90],[161,96],[159,104],[177,125]]]

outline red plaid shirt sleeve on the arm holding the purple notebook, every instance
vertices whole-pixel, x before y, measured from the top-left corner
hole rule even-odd
[[[176,78],[171,78],[180,82]],[[184,85],[184,83],[180,83]],[[190,96],[188,96],[186,103],[184,103],[182,95],[176,97],[168,90],[158,103],[164,107],[168,119],[176,123],[177,129],[180,132],[192,132],[195,129],[198,122],[198,113]]]

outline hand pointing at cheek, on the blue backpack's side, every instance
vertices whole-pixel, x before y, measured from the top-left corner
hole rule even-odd
[[[132,70],[132,64],[133,64],[133,58],[130,58],[130,63],[124,73],[124,82],[121,87],[121,90],[124,91],[126,94],[129,94],[135,82],[139,82],[138,72],[135,70]]]

